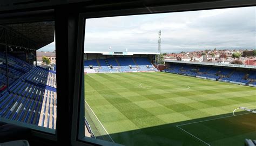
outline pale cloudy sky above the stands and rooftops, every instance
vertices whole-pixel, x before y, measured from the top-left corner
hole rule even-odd
[[[157,52],[159,30],[161,52],[256,48],[255,17],[256,6],[86,19],[84,48]]]

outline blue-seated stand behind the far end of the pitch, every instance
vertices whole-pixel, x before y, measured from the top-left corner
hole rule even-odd
[[[112,57],[85,60],[84,68],[87,73],[158,72],[158,69],[151,64],[147,57]]]

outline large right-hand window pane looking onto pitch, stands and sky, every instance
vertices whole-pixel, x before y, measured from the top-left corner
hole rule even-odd
[[[255,6],[86,19],[85,136],[124,145],[256,140]]]

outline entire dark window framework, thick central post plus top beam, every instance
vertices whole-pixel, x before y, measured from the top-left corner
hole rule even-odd
[[[85,4],[86,5],[86,4]],[[88,4],[89,5],[89,4]],[[93,12],[79,4],[50,6],[43,12],[35,9],[20,10],[21,13],[5,15],[0,24],[55,20],[57,58],[57,126],[56,135],[32,130],[35,137],[57,142],[58,145],[111,145],[109,142],[84,137],[84,71],[83,52],[85,19],[161,12],[194,11],[220,8],[255,6],[254,0],[215,1],[193,4],[142,6],[124,5],[115,10],[106,6]],[[104,5],[103,5],[104,6]],[[109,5],[108,5],[109,6]],[[117,8],[119,10],[117,10]],[[46,8],[45,8],[46,9]],[[54,9],[54,10],[53,10]],[[104,10],[104,11],[102,11]],[[23,12],[22,12],[23,11]],[[35,15],[24,11],[34,11]],[[1,18],[1,15],[0,15]],[[24,19],[23,19],[24,18]],[[26,124],[23,124],[26,125]],[[33,129],[36,129],[35,127]]]

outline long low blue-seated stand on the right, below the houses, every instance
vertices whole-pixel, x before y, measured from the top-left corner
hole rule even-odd
[[[164,72],[214,79],[243,85],[256,85],[256,71],[237,71],[235,68],[171,64]],[[248,76],[248,78],[246,78]]]

